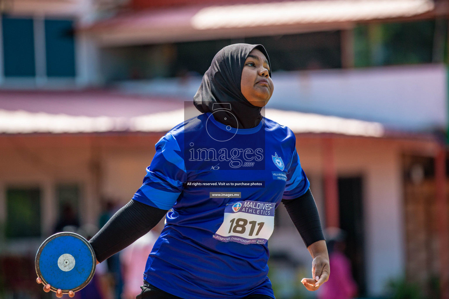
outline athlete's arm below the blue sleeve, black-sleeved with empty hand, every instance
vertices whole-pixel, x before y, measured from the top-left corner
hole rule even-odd
[[[312,261],[313,278],[304,278],[301,282],[308,290],[318,290],[330,274],[329,255],[321,229],[317,204],[310,189],[295,199],[282,199],[293,224],[304,240]],[[318,278],[317,278],[318,277]]]

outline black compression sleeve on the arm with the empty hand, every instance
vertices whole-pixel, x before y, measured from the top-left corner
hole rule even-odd
[[[317,204],[315,204],[315,199],[313,199],[310,189],[298,198],[282,199],[282,203],[299,231],[301,238],[303,238],[306,247],[325,239],[321,229]]]

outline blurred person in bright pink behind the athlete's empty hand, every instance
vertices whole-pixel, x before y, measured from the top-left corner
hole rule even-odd
[[[351,299],[357,295],[357,284],[352,277],[351,261],[344,255],[345,233],[338,228],[326,229],[326,243],[332,275],[323,284],[318,299]]]

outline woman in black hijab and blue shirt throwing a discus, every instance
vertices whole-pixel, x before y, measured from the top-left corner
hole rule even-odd
[[[156,143],[140,189],[89,241],[102,262],[169,211],[137,299],[274,298],[267,241],[281,202],[313,258],[313,278],[302,283],[317,290],[327,281],[326,243],[295,135],[261,115],[272,94],[262,45],[221,49],[194,97],[202,114]]]

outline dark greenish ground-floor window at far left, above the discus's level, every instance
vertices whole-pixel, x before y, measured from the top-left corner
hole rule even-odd
[[[40,190],[10,188],[6,191],[6,238],[40,236]]]

